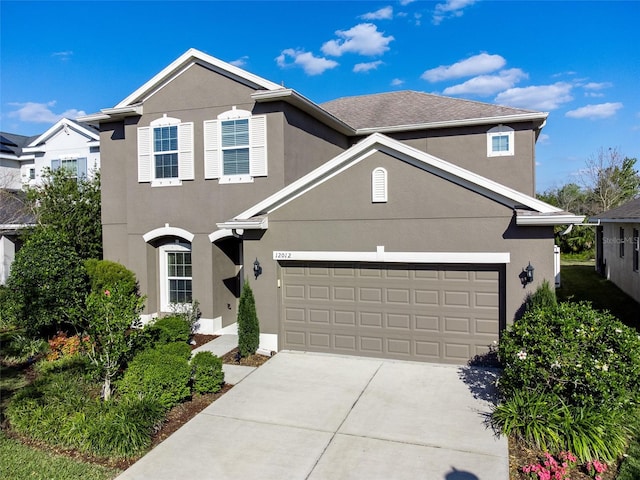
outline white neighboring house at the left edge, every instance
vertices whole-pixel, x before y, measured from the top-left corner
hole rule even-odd
[[[100,135],[89,124],[63,118],[41,135],[1,132],[0,138],[0,188],[38,185],[45,167],[64,167],[78,177],[100,169]]]

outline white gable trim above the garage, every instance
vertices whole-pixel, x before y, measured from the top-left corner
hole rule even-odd
[[[536,214],[536,222],[528,224],[553,225],[556,223],[579,223],[584,218],[567,214],[559,208],[530,197],[529,195],[525,195],[474,172],[417,150],[386,135],[375,133],[279,192],[245,210],[233,220],[219,224],[218,227],[251,228],[252,219],[254,219],[256,223],[255,228],[265,228],[268,224],[265,221],[265,217],[270,212],[304,195],[317,185],[335,175],[339,175],[352,165],[355,165],[378,151],[384,152],[400,161],[412,164],[477,194],[506,205],[517,211],[518,214],[520,214],[520,212],[526,215],[530,215],[531,213]],[[562,217],[562,221],[554,219],[555,217]],[[544,223],[544,221],[547,223]],[[237,225],[242,225],[242,227]]]

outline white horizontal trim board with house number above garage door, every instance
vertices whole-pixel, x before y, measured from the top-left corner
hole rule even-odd
[[[376,262],[376,263],[476,263],[503,264],[511,262],[509,252],[273,252],[276,261]]]

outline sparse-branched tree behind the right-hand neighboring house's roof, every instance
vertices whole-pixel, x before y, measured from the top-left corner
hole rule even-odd
[[[586,162],[582,181],[591,191],[595,212],[601,213],[640,195],[636,159],[623,157],[616,148],[601,148]]]

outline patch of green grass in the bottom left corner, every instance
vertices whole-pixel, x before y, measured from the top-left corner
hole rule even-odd
[[[0,478],[23,480],[111,480],[120,470],[83,463],[43,450],[32,448],[8,438],[0,431]]]

